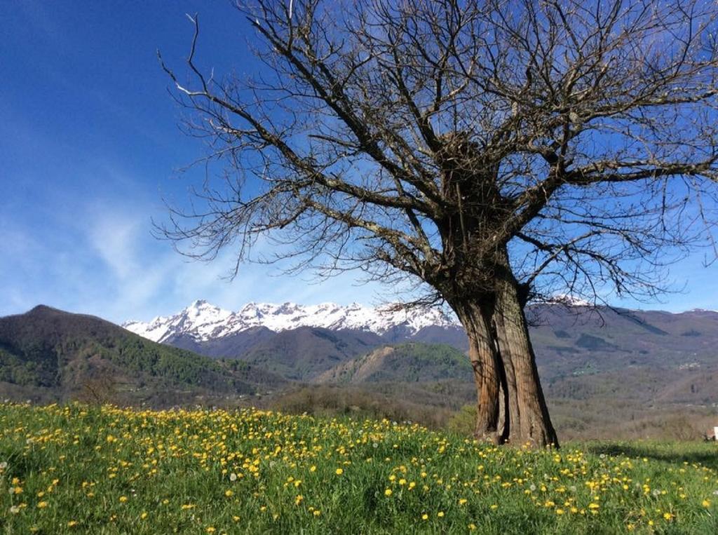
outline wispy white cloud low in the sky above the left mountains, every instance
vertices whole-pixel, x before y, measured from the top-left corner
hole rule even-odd
[[[157,216],[153,203],[95,197],[64,198],[58,205],[64,208],[51,225],[58,238],[38,240],[37,228],[24,228],[0,246],[6,258],[15,259],[10,266],[14,275],[0,269],[14,286],[0,314],[44,302],[121,322],[176,312],[194,299],[236,310],[249,301],[371,304],[381,293],[377,284],[358,285],[354,274],[314,284],[308,272],[284,276],[273,266],[259,264],[241,266],[229,280],[234,263],[230,249],[209,263],[191,261],[151,236],[150,215]],[[67,235],[73,239],[68,241]],[[20,266],[29,276],[17,276]]]

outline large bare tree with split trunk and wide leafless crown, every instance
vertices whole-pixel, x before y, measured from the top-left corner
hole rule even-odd
[[[223,169],[163,235],[204,259],[249,260],[269,236],[297,269],[408,274],[431,290],[417,302],[447,303],[469,336],[477,437],[558,445],[524,307],[650,297],[667,253],[711,243],[714,4],[238,9],[260,42],[255,76],[198,67],[196,17],[189,81],[162,64]]]

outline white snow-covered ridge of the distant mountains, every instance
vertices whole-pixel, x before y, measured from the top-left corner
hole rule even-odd
[[[248,303],[232,312],[200,300],[175,315],[156,317],[150,322],[129,321],[122,326],[149,340],[164,342],[179,335],[188,335],[197,341],[213,340],[252,327],[266,327],[274,332],[305,326],[324,327],[363,330],[378,335],[401,327],[411,335],[424,327],[456,325],[459,324],[454,317],[428,308],[390,311],[361,304],[345,307],[335,303],[302,305],[287,302]]]

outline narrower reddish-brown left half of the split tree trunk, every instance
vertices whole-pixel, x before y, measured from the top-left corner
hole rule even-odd
[[[499,404],[500,393],[505,391],[505,374],[490,325],[493,304],[462,300],[452,307],[469,338],[477,399],[475,437],[498,444],[502,442]]]

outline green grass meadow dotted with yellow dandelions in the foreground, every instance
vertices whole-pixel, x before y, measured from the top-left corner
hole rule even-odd
[[[496,448],[253,409],[2,404],[0,533],[714,534],[717,457]]]

